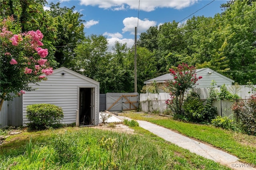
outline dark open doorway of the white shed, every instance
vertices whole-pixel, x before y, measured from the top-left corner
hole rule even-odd
[[[79,125],[94,125],[94,88],[79,88]]]

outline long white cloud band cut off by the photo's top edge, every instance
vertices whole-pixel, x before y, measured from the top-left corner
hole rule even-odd
[[[154,11],[156,8],[182,9],[192,6],[198,0],[140,0],[140,10]],[[80,0],[81,5],[98,6],[103,9],[125,10],[127,8],[138,10],[139,1],[135,0]]]

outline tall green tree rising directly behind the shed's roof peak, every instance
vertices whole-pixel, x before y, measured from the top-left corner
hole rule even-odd
[[[68,67],[74,69],[76,61],[74,60],[76,53],[74,48],[78,42],[81,42],[84,36],[84,20],[79,12],[73,12],[72,8],[60,7],[60,2],[50,3],[50,10],[47,10],[56,27],[56,37],[54,38],[54,46],[56,51],[54,57],[58,62],[58,67]]]

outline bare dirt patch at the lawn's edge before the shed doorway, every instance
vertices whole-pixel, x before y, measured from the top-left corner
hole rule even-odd
[[[134,129],[129,128],[128,126],[123,124],[104,124],[102,126],[100,125],[100,126],[95,126],[91,128],[98,128],[102,130],[111,130],[114,132],[125,132],[129,134],[134,134]]]

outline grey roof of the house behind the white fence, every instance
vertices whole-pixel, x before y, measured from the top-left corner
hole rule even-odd
[[[204,71],[211,71],[212,73],[214,72],[216,75],[224,78],[224,79],[227,79],[228,81],[231,81],[231,82],[234,82],[234,80],[220,74],[220,73],[217,73],[216,71],[210,69],[210,68],[202,68],[202,69],[196,69],[196,73],[197,75],[200,75],[200,73],[204,72]],[[156,81],[157,83],[164,83],[166,82],[167,80],[174,80],[173,76],[170,74],[170,73],[167,73],[167,74],[164,74],[164,75],[161,75],[159,77],[155,77],[153,79],[150,79],[150,80],[147,80],[147,81],[144,81],[144,84],[149,84],[149,83],[152,83],[153,81]]]

